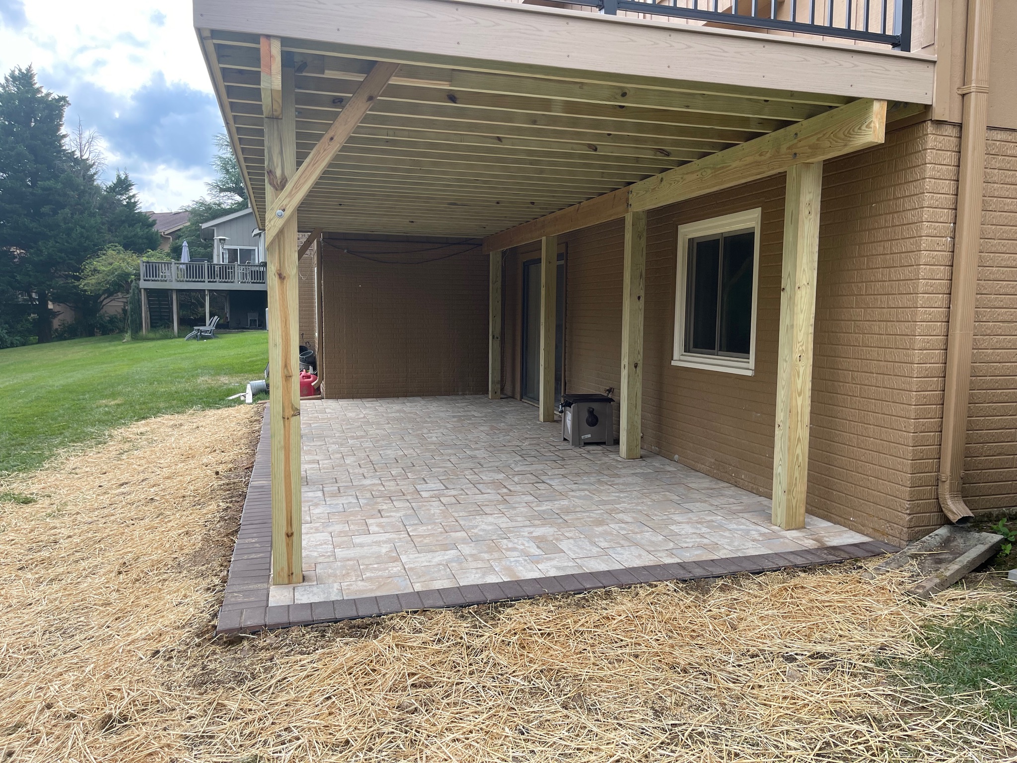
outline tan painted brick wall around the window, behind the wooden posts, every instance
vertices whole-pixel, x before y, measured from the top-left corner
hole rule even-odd
[[[996,134],[995,132],[993,133]],[[955,125],[925,122],[824,172],[809,511],[903,542],[943,522],[936,500],[953,219]],[[1017,421],[1017,143],[994,138],[972,383],[972,508],[1013,500]],[[763,495],[771,490],[783,176],[651,213],[647,245],[644,447]],[[995,194],[995,195],[994,195]],[[990,211],[996,204],[999,209]],[[762,207],[756,374],[670,364],[676,227]],[[995,215],[995,217],[993,217]],[[621,225],[565,237],[570,392],[618,387]],[[508,252],[506,268],[522,257]],[[518,314],[506,271],[505,315]],[[518,355],[506,328],[505,367]],[[518,372],[518,371],[514,371]],[[506,394],[518,396],[512,378]]]

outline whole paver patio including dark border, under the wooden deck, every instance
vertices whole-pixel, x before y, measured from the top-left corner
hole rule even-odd
[[[646,454],[574,449],[486,398],[302,404],[305,582],[268,586],[267,432],[219,630],[255,630],[653,580],[761,572],[891,546]],[[267,420],[267,419],[266,419]]]

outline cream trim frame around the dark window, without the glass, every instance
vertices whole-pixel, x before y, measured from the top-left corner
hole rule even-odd
[[[671,365],[723,371],[724,373],[738,373],[743,376],[755,375],[756,314],[759,312],[760,227],[762,220],[763,208],[758,207],[755,210],[737,212],[733,215],[724,215],[719,218],[711,218],[710,220],[701,220],[697,223],[678,226],[678,271],[674,292],[674,350],[671,356]],[[743,230],[745,228],[753,228],[756,231],[753,252],[753,328],[749,344],[749,357],[726,358],[717,355],[700,355],[699,353],[685,352],[685,295],[687,293],[685,282],[689,277],[689,239],[699,238],[700,236],[712,236],[717,233],[730,233],[731,231]]]

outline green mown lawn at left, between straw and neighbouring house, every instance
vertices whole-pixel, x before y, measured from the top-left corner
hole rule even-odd
[[[233,405],[261,378],[265,332],[124,342],[96,337],[0,350],[0,475],[164,413]]]

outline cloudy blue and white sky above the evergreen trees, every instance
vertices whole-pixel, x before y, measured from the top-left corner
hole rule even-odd
[[[0,0],[0,74],[28,64],[70,99],[68,130],[102,136],[104,179],[129,173],[157,212],[204,195],[225,130],[190,0]]]

